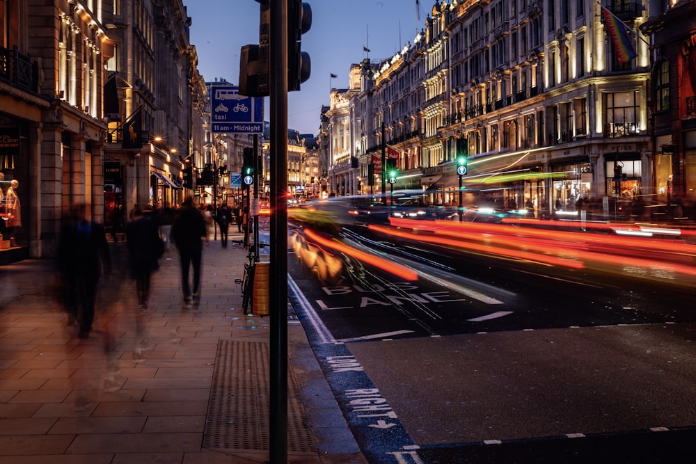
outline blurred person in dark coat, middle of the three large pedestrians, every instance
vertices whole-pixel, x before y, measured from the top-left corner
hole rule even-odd
[[[159,238],[159,230],[154,219],[143,216],[143,210],[136,206],[132,221],[126,225],[129,269],[136,282],[138,305],[142,312],[148,310],[150,297],[150,278],[159,269],[159,257],[164,253],[164,243]]]

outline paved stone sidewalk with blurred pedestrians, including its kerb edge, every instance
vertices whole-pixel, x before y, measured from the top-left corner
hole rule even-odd
[[[239,309],[246,255],[205,245],[196,312],[168,250],[140,334],[134,284],[116,273],[86,340],[66,326],[54,262],[0,266],[0,464],[267,462],[269,317]],[[289,312],[288,461],[365,463]]]

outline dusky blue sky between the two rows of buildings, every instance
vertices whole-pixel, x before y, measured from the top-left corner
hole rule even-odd
[[[299,92],[288,94],[290,129],[317,134],[322,105],[331,88],[347,88],[352,63],[389,58],[425,24],[433,0],[309,0],[312,28],[302,38],[312,73]],[[216,77],[239,82],[239,49],[258,43],[259,3],[254,0],[184,0],[192,19],[191,44],[198,51],[198,71],[206,81]],[[338,77],[331,79],[331,74]],[[268,99],[265,102],[268,107]],[[268,114],[268,110],[267,110]]]

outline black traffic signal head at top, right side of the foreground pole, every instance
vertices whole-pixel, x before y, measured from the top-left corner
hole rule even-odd
[[[301,0],[287,3],[287,91],[300,90],[300,84],[309,79],[312,62],[301,49],[302,34],[312,27],[312,8]]]

